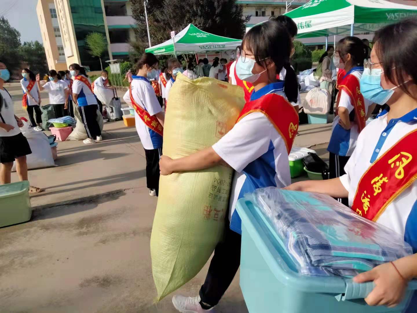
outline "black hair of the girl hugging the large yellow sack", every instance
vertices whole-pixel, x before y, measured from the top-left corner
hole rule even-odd
[[[297,102],[298,80],[290,64],[293,44],[287,28],[275,20],[256,25],[244,36],[242,47],[252,51],[260,66],[266,67],[265,59],[270,58],[275,63],[276,74],[285,68],[285,96],[289,102]]]

